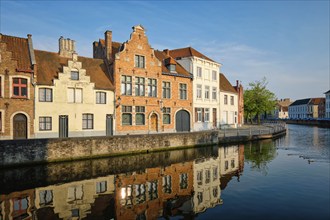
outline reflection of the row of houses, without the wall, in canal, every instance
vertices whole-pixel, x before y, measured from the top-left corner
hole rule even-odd
[[[0,220],[191,218],[222,204],[221,190],[243,172],[243,145],[216,154],[3,194]]]

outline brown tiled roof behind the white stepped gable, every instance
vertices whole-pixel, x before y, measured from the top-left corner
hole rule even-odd
[[[37,84],[52,85],[53,79],[58,79],[58,73],[63,72],[63,66],[68,64],[69,58],[59,56],[58,53],[35,50],[37,62]],[[86,69],[91,82],[96,89],[114,90],[114,86],[106,74],[106,66],[102,59],[93,59],[78,56],[78,62]]]

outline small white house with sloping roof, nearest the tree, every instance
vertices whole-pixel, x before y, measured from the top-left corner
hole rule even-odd
[[[223,73],[220,74],[220,126],[237,127],[238,94]]]

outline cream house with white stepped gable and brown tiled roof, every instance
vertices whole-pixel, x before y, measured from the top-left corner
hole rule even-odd
[[[35,136],[65,138],[114,133],[114,87],[102,59],[80,57],[75,41],[59,52],[35,50]]]

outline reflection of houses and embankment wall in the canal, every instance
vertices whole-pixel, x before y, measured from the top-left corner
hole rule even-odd
[[[243,167],[234,145],[12,169],[1,173],[0,219],[193,217],[222,204]]]

